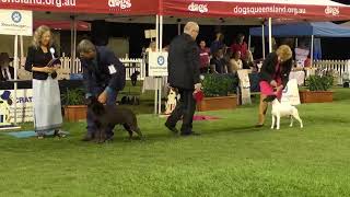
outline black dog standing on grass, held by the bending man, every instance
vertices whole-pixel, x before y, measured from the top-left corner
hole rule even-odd
[[[106,106],[100,103],[96,97],[91,96],[88,99],[88,111],[92,113],[97,127],[95,132],[96,142],[104,142],[106,140],[106,129],[116,125],[122,125],[129,132],[130,139],[132,138],[132,131],[142,138],[136,115],[129,108]]]

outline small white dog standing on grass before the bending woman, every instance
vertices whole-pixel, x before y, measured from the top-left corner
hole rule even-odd
[[[276,123],[276,129],[280,129],[280,119],[283,116],[291,117],[290,127],[293,126],[293,117],[294,117],[300,123],[300,128],[303,128],[303,120],[299,117],[296,107],[287,103],[280,103],[277,99],[272,101],[271,115],[272,115],[271,129],[275,128],[275,123]]]

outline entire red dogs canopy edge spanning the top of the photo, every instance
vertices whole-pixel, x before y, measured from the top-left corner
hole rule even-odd
[[[1,8],[119,15],[168,15],[183,18],[285,18],[350,20],[350,7],[330,0],[1,0]]]

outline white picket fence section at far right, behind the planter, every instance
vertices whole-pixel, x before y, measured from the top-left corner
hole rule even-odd
[[[313,62],[313,67],[322,69],[322,70],[337,71],[338,83],[342,84],[342,78],[349,77],[349,73],[350,73],[350,59],[348,59],[348,60],[315,60]]]

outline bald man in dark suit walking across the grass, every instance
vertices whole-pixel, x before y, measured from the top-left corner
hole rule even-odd
[[[192,118],[196,109],[194,92],[200,91],[200,56],[196,44],[199,26],[195,22],[185,25],[184,34],[175,37],[168,50],[168,83],[180,94],[179,103],[167,118],[165,126],[177,134],[176,123],[183,118],[182,136],[198,135],[192,131]]]

